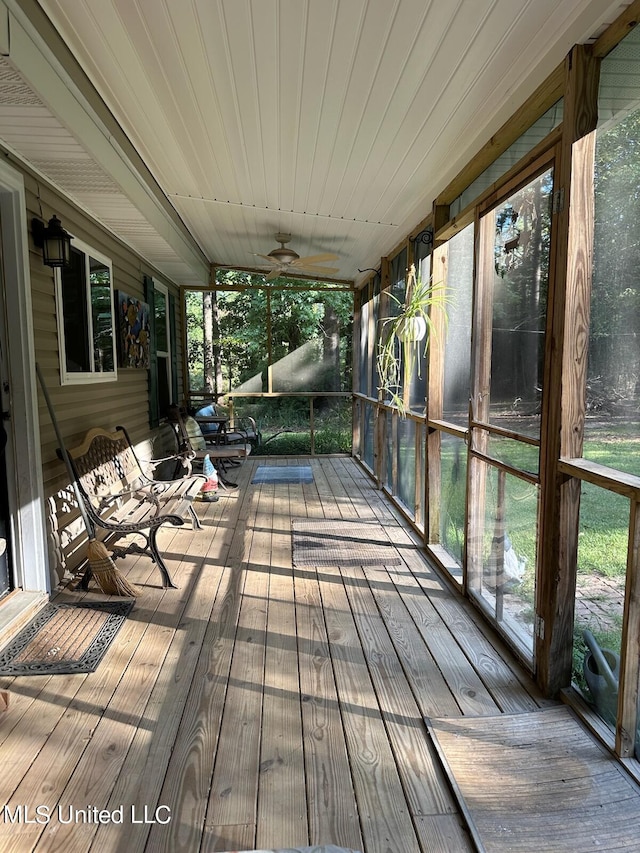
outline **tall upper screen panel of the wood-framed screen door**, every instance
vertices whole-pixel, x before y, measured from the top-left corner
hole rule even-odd
[[[551,245],[548,170],[492,212],[490,420],[539,436]]]

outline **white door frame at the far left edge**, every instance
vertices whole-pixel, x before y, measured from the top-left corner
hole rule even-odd
[[[0,228],[11,388],[5,456],[13,584],[17,591],[48,593],[51,573],[44,513],[26,195],[23,176],[4,162],[0,162]],[[20,329],[20,334],[10,334],[11,329]]]

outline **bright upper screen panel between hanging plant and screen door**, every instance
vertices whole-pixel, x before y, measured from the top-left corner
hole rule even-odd
[[[473,225],[449,241],[447,329],[444,346],[443,416],[459,426],[469,419]]]

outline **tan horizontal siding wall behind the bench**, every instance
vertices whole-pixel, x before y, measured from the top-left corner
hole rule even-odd
[[[57,215],[65,229],[74,237],[106,255],[113,264],[114,291],[122,290],[144,299],[143,278],[153,276],[162,281],[174,294],[179,290],[161,276],[144,259],[117,240],[101,225],[89,219],[68,199],[44,184],[36,176],[17,166],[24,175],[27,202],[27,229],[31,219],[47,221]],[[42,263],[42,253],[29,236],[29,261],[33,303],[35,355],[40,365],[56,417],[68,447],[78,444],[87,430],[100,426],[111,429],[124,425],[134,444],[144,456],[150,452],[148,371],[118,369],[117,381],[60,384],[58,332],[54,272]],[[179,304],[179,301],[176,302]],[[181,320],[176,318],[178,364],[181,363]],[[178,376],[181,382],[181,376]],[[181,385],[179,384],[180,388]],[[86,538],[77,512],[65,512],[73,495],[63,464],[56,456],[57,441],[49,413],[39,392],[39,418],[42,448],[43,479],[46,499],[47,527],[50,537],[50,566],[55,586],[81,562],[82,543]]]

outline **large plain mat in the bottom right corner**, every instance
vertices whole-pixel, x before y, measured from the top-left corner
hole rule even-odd
[[[566,706],[426,722],[479,851],[638,849],[640,786]]]

